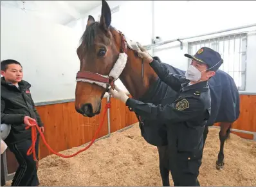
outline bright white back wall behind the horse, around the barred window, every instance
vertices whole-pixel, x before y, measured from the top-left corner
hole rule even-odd
[[[113,26],[125,33],[129,39],[138,40],[143,45],[150,44],[151,39],[156,36],[160,36],[162,40],[170,40],[256,24],[256,1],[107,2],[110,8],[120,6],[120,11],[113,14]],[[101,6],[87,12],[84,17],[84,26],[86,26],[88,15],[93,15],[95,19],[98,19],[100,12]],[[154,17],[153,21],[152,16]],[[251,32],[248,34],[246,90],[241,92],[256,93],[253,76],[256,72],[256,36],[253,33],[256,27],[229,31],[221,33],[221,35],[248,30]],[[215,36],[219,35],[210,37]],[[179,42],[161,46],[159,48],[168,49],[155,52],[154,55],[159,56],[163,62],[185,70],[188,67],[188,59],[184,57],[184,54],[188,53],[188,42],[201,39],[205,39],[205,37],[184,40],[182,50]],[[121,82],[117,84],[123,87]]]

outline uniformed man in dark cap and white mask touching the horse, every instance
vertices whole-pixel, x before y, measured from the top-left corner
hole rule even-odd
[[[169,168],[174,186],[200,186],[197,176],[203,154],[203,131],[210,116],[210,91],[208,80],[223,64],[221,55],[213,49],[203,47],[191,58],[185,77],[174,75],[154,60],[140,46],[138,55],[149,62],[161,81],[177,91],[178,98],[169,105],[153,105],[129,98],[116,87],[110,90],[139,116],[161,120],[167,125]],[[156,132],[158,133],[158,132]]]

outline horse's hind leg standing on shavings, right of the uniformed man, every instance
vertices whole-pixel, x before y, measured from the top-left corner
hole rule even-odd
[[[217,170],[223,169],[224,166],[224,142],[226,139],[230,138],[231,127],[232,123],[221,123],[221,130],[219,131],[219,141],[221,142],[221,146],[219,149],[218,159],[216,161]]]

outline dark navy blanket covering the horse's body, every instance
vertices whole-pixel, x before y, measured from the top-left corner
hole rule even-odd
[[[162,63],[165,64],[165,63]],[[165,64],[170,73],[185,75],[185,71]],[[217,70],[215,76],[208,81],[211,95],[211,114],[206,125],[211,126],[217,122],[233,122],[239,117],[239,91],[233,78],[224,71]],[[154,105],[166,105],[172,103],[176,99],[178,93],[171,89],[167,84],[161,82],[158,78],[151,85],[149,91],[142,97],[140,101],[145,103],[153,103]],[[167,145],[166,125],[161,124],[158,120],[147,120],[142,118],[143,127],[141,128],[143,138],[151,145]]]

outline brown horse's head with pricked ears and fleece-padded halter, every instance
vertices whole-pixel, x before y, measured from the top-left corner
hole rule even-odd
[[[80,71],[77,73],[75,90],[75,109],[80,114],[93,117],[100,113],[101,102],[109,87],[114,87],[118,78],[133,95],[145,93],[143,87],[149,85],[144,78],[143,86],[136,84],[142,79],[142,59],[136,56],[131,40],[125,39],[122,32],[111,26],[111,10],[106,1],[102,1],[100,21],[89,15],[86,30],[77,48]],[[145,64],[145,76],[152,70]],[[140,86],[140,90],[136,89]]]

